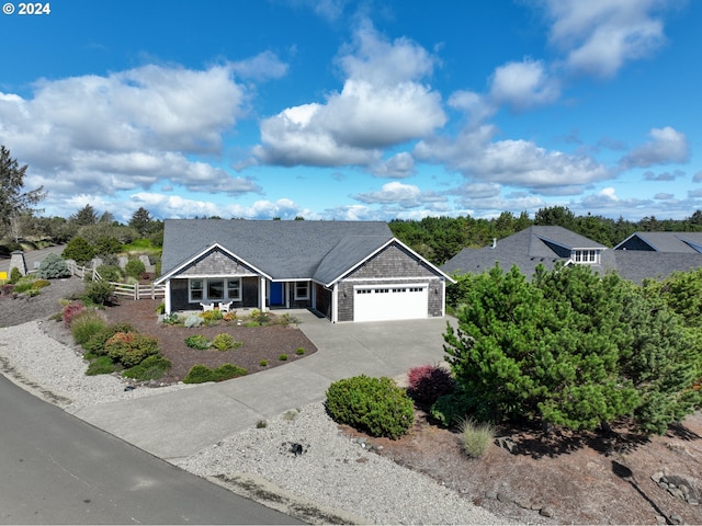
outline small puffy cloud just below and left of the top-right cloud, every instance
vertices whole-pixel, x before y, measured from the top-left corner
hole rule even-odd
[[[490,84],[492,100],[517,111],[547,104],[559,96],[557,82],[546,73],[541,60],[525,59],[500,66],[495,69]]]

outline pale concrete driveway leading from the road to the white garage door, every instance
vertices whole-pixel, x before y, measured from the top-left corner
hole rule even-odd
[[[321,401],[329,384],[365,374],[401,380],[410,367],[443,359],[445,319],[329,323],[290,311],[317,352],[219,384],[105,403],[73,414],[157,457],[178,461],[291,409]]]

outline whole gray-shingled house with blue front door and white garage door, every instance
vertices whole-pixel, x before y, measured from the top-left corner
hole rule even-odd
[[[444,316],[452,281],[385,222],[167,219],[166,311],[309,308],[338,321]]]

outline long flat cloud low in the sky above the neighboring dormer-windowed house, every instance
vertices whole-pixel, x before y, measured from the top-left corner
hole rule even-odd
[[[494,126],[466,128],[455,139],[434,137],[420,141],[417,159],[445,163],[477,182],[542,191],[575,187],[610,176],[609,170],[587,156],[548,151],[532,141],[494,141]]]

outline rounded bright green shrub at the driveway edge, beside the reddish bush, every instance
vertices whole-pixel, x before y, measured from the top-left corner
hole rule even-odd
[[[361,375],[331,384],[326,408],[336,422],[393,439],[406,434],[415,418],[405,390],[386,377]]]

